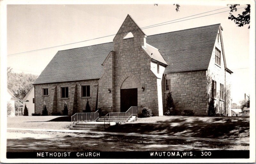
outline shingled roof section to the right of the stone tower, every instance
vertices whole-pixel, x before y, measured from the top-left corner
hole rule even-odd
[[[156,34],[147,43],[168,63],[164,73],[207,70],[220,24]]]

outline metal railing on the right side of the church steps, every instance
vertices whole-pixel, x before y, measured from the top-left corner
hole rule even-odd
[[[104,116],[104,124],[110,122],[126,122],[131,116],[138,114],[138,107],[131,107],[126,112],[111,112]]]

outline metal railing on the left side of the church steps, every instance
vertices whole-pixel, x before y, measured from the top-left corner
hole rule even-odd
[[[94,113],[76,113],[71,116],[71,127],[78,122],[94,122],[100,117],[99,110]]]

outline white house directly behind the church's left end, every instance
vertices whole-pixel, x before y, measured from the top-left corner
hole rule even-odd
[[[35,113],[35,89],[34,87],[28,92],[28,94],[22,99],[23,102],[23,111],[25,104],[28,108],[28,116],[32,116],[32,113]]]

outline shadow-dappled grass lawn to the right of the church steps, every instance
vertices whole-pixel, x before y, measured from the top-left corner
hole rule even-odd
[[[249,120],[248,117],[155,116],[110,126],[106,131],[249,140]]]

